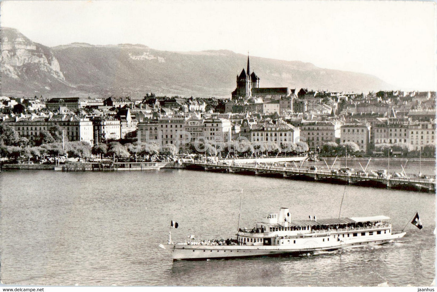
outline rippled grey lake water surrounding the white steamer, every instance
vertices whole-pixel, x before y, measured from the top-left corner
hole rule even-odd
[[[21,285],[430,285],[435,276],[435,197],[346,186],[341,216],[386,215],[395,243],[311,256],[176,261],[158,247],[170,220],[174,241],[235,237],[241,227],[289,207],[293,219],[338,217],[345,186],[187,170],[3,171],[3,284]],[[412,224],[420,214],[423,229]]]

